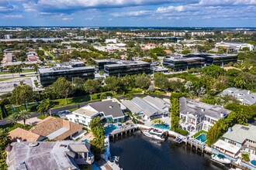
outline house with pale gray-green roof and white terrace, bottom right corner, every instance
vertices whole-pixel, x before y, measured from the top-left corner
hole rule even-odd
[[[246,153],[251,160],[256,159],[256,126],[248,124],[244,126],[235,124],[232,128],[223,134],[223,140],[216,141],[212,152],[225,155],[232,161],[239,162],[247,168],[256,169],[256,166],[248,162],[241,162],[241,154]],[[253,167],[253,168],[252,168]]]

